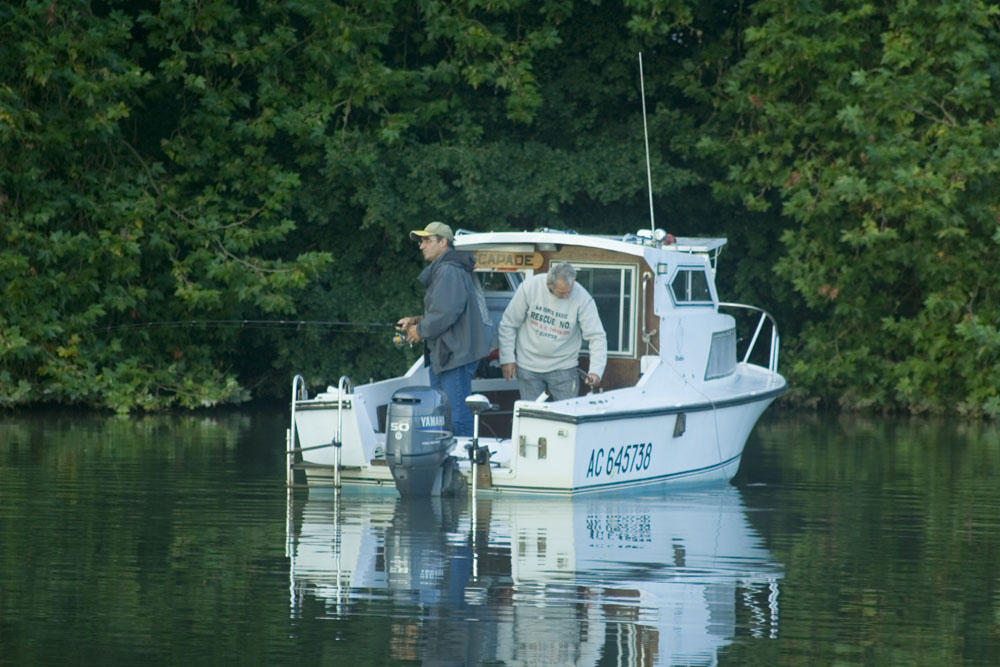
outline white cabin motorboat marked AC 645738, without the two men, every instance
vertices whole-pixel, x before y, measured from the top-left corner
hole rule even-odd
[[[608,336],[600,387],[561,401],[520,400],[516,381],[504,380],[495,360],[484,360],[473,380],[480,395],[474,411],[496,409],[481,415],[472,439],[441,428],[440,406],[421,412],[413,392],[428,385],[422,359],[400,377],[368,384],[341,377],[311,397],[297,375],[289,482],[301,468],[310,485],[393,484],[387,434],[390,448],[396,439],[420,435],[413,447],[433,445],[445,454],[431,493],[447,490],[456,472],[477,493],[729,481],[754,424],[786,383],[773,318],[719,297],[716,263],[725,243],[674,239],[661,230],[624,237],[460,231],[456,249],[474,253],[494,323],[526,277],[556,261],[576,267]],[[587,363],[584,350],[582,370]],[[406,410],[394,414],[393,396],[401,391],[410,392],[397,401]]]

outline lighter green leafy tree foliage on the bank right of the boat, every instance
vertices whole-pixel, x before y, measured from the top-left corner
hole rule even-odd
[[[733,165],[720,190],[794,221],[795,395],[1000,413],[996,6],[764,1],[744,35],[733,132],[703,145]]]

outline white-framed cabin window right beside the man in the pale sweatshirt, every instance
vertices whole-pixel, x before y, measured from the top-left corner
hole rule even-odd
[[[597,304],[597,314],[608,336],[608,354],[634,354],[635,271],[634,266],[577,264],[576,281],[590,292]],[[583,341],[586,349],[587,341]]]

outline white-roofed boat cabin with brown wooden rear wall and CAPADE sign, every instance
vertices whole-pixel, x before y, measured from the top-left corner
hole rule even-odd
[[[474,233],[459,231],[456,249],[476,258],[475,275],[486,296],[494,325],[518,285],[545,273],[556,262],[569,262],[577,282],[593,297],[608,337],[608,363],[597,391],[634,386],[651,359],[660,354],[663,319],[680,308],[690,318],[698,309],[716,313],[715,265],[725,239],[681,238],[669,245],[648,232],[626,237],[583,236],[569,232]],[[735,332],[727,355],[735,365]],[[484,393],[500,409],[484,417],[491,434],[509,437],[517,383],[506,382],[498,354],[480,364],[473,391]],[[715,355],[718,363],[719,355]],[[681,361],[678,359],[678,361]],[[707,360],[706,360],[707,361]],[[586,341],[580,368],[586,370]],[[590,388],[581,383],[581,394]]]

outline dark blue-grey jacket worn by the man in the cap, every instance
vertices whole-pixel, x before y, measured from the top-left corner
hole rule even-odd
[[[490,352],[492,323],[472,276],[475,264],[471,254],[449,248],[420,272],[418,279],[427,292],[417,333],[424,339],[436,374],[478,361]]]

